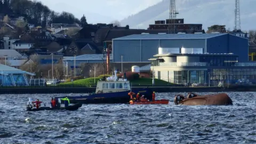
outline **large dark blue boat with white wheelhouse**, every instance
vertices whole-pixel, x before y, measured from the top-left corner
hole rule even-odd
[[[147,99],[152,100],[153,91],[147,88],[131,89],[131,84],[127,79],[118,79],[117,71],[115,70],[114,73],[115,75],[106,78],[106,81],[98,81],[94,94],[68,96],[70,103],[129,103],[130,96],[128,93],[131,91],[135,94],[145,95]],[[58,100],[58,98],[60,97],[55,99]]]

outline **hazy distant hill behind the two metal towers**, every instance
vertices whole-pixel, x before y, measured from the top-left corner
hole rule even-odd
[[[255,0],[240,1],[241,28],[242,30],[256,29]],[[122,25],[130,28],[148,28],[155,20],[169,18],[169,0],[163,0],[156,5],[150,6],[137,14],[130,15],[121,21]],[[202,23],[203,28],[211,25],[226,25],[233,30],[235,24],[235,1],[234,0],[179,0],[176,1],[176,10],[180,14],[177,18],[184,18],[185,23]]]

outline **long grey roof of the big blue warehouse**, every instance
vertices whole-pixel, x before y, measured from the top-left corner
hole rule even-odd
[[[222,35],[228,35],[227,33],[220,34],[140,34],[129,35],[125,37],[114,38],[113,40],[132,40],[132,39],[206,39]]]

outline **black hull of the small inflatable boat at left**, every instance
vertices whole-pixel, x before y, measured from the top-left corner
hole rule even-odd
[[[59,107],[59,108],[51,108],[51,107],[40,107],[38,109],[27,107],[27,111],[41,111],[41,110],[77,110],[82,107],[82,103],[76,103],[75,105],[71,105],[68,107]]]

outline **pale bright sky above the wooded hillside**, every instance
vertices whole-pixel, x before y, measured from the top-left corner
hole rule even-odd
[[[88,23],[109,23],[138,13],[162,0],[39,0],[56,12],[70,12]]]

